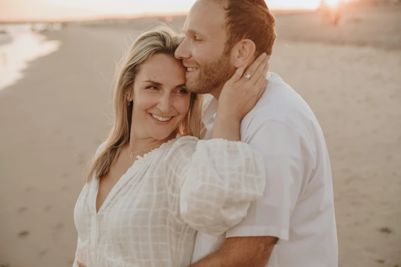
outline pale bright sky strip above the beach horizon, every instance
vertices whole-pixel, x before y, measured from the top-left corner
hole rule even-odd
[[[187,12],[195,0],[0,0],[0,21]],[[320,0],[266,0],[271,9],[314,9]]]

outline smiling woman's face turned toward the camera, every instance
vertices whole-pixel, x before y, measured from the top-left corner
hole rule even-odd
[[[132,131],[137,138],[163,140],[172,135],[189,109],[185,68],[174,56],[153,55],[134,82]]]

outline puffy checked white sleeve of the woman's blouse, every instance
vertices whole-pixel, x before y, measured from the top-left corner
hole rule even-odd
[[[263,157],[248,144],[181,138],[168,158],[166,173],[178,187],[177,217],[197,231],[224,233],[263,195]]]

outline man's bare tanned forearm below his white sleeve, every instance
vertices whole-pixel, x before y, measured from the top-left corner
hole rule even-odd
[[[224,246],[191,267],[265,267],[278,238],[230,237]]]

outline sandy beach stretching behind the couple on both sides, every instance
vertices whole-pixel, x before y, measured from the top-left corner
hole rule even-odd
[[[180,29],[184,19],[171,24]],[[0,91],[1,267],[72,265],[73,209],[110,129],[115,64],[157,21],[46,33],[59,50]],[[270,71],[305,99],[325,133],[341,267],[401,267],[400,25],[401,5],[349,10],[337,27],[321,25],[319,14],[277,15]]]

